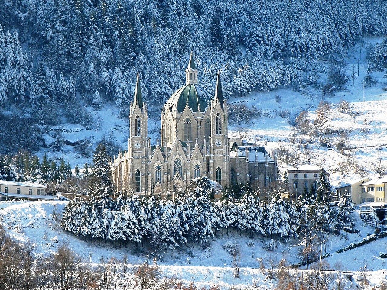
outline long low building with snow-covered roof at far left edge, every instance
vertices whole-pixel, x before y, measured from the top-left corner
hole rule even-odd
[[[0,180],[0,200],[53,200],[53,196],[46,195],[47,186],[35,182]],[[8,194],[7,194],[8,193]]]

